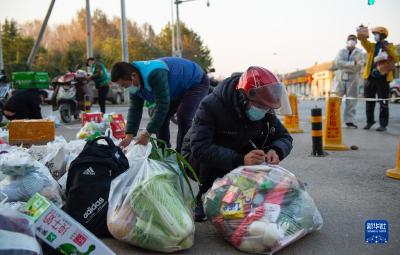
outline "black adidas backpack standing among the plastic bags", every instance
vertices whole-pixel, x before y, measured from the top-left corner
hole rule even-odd
[[[87,142],[68,170],[64,211],[96,236],[110,236],[107,210],[111,181],[128,168],[128,159],[109,137]]]

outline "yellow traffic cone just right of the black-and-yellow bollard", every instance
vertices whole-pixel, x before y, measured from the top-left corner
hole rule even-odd
[[[340,98],[328,96],[323,144],[325,150],[345,151],[349,147],[342,143],[342,121],[340,117]]]

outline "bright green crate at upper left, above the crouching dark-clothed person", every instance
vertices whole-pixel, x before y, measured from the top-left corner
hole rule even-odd
[[[49,74],[46,72],[14,72],[12,73],[14,89],[48,89]]]

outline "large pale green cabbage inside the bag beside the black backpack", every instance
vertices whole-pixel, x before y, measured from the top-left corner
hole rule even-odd
[[[133,239],[143,248],[172,252],[193,245],[193,240],[185,242],[186,247],[179,245],[192,235],[194,224],[173,178],[176,176],[168,172],[153,176],[131,193],[130,205],[137,216]]]

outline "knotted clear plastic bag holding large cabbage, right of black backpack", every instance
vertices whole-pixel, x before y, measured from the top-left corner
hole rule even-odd
[[[150,159],[151,153],[149,144],[136,145],[127,154],[131,167],[111,183],[108,228],[116,239],[142,248],[188,249],[195,231],[188,184],[175,162]]]

